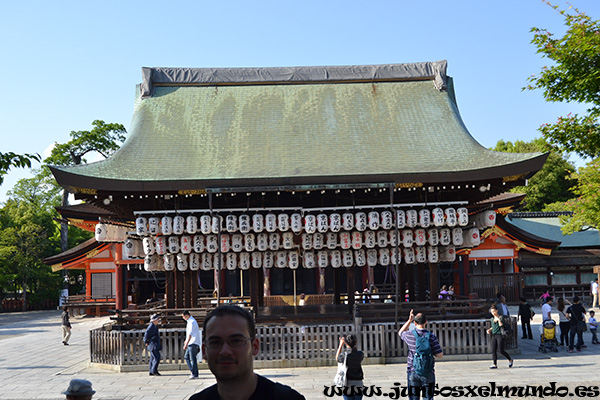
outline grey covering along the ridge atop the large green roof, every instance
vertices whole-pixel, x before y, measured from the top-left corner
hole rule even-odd
[[[142,68],[142,98],[153,95],[154,85],[217,85],[235,83],[300,83],[433,79],[446,89],[447,61],[409,64],[280,68]]]

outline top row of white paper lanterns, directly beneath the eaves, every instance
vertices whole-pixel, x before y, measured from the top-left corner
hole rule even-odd
[[[482,213],[483,214],[483,213]],[[481,227],[493,226],[495,224],[495,212],[486,212],[486,217],[481,220]],[[490,220],[491,218],[491,220]],[[398,229],[406,228],[429,228],[435,227],[455,227],[467,226],[469,224],[469,215],[465,207],[454,209],[452,207],[442,209],[436,207],[432,210],[396,210]],[[492,225],[488,225],[489,223]],[[148,235],[182,235],[182,234],[210,234],[210,233],[236,233],[243,234],[254,232],[287,232],[291,230],[295,233],[326,233],[339,231],[392,229],[395,227],[394,214],[392,211],[370,211],[368,213],[359,211],[356,213],[345,212],[342,214],[320,213],[317,215],[300,213],[268,213],[266,215],[255,213],[248,214],[229,214],[223,220],[220,215],[204,214],[200,217],[195,215],[176,215],[174,217],[164,216],[149,217],[139,216],[135,221],[136,233],[138,236]]]

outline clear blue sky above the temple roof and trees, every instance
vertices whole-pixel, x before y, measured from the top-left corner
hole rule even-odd
[[[555,1],[563,8],[564,1]],[[594,19],[600,1],[570,2]],[[563,18],[541,0],[13,1],[0,5],[0,151],[45,155],[96,119],[129,129],[141,67],[278,67],[448,60],[463,120],[483,146],[531,140],[582,112],[522,91],[548,63],[532,27]],[[0,186],[6,199],[26,170]]]

